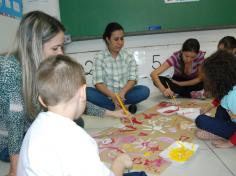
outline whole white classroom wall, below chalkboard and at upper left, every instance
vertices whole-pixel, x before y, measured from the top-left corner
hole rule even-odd
[[[23,12],[26,13],[32,10],[42,10],[60,19],[58,0],[23,1]],[[6,51],[12,44],[18,23],[19,21],[15,19],[0,15],[0,52]],[[215,51],[218,41],[226,35],[236,37],[236,29],[129,36],[125,38],[125,48],[134,53],[139,65],[139,83],[147,85],[151,91],[154,91],[156,88],[150,80],[150,72],[153,68],[158,67],[160,63],[163,63],[174,51],[179,50],[184,40],[190,37],[197,38],[200,41],[201,49],[206,51],[207,55],[210,55]],[[101,39],[77,41],[66,46],[65,52],[83,64],[85,71],[90,73],[87,75],[89,86],[92,85],[91,67],[93,57],[103,49],[105,49],[105,44]],[[172,70],[168,70],[164,74],[171,76]]]

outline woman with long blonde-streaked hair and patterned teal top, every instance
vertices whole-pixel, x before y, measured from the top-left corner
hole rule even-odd
[[[18,153],[29,124],[42,110],[37,102],[35,71],[40,62],[63,54],[64,26],[40,11],[26,14],[19,25],[15,47],[0,56],[0,159],[8,160],[8,175],[16,175]],[[123,116],[122,111],[108,111],[87,103],[91,115]]]

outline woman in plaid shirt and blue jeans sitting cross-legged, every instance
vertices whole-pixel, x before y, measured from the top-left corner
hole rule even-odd
[[[129,111],[135,113],[136,104],[147,99],[150,90],[136,85],[138,69],[132,54],[122,49],[124,29],[118,23],[109,23],[103,34],[107,49],[98,53],[93,63],[93,84],[87,88],[87,99],[97,106],[114,110],[118,107],[115,94],[119,94]]]

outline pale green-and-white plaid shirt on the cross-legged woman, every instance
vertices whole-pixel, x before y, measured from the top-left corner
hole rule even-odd
[[[137,80],[137,64],[132,54],[121,50],[114,59],[108,50],[94,58],[93,84],[103,83],[114,93],[119,92],[129,80]]]

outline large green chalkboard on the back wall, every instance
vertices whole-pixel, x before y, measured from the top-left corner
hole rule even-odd
[[[164,0],[59,0],[62,23],[72,39],[101,37],[109,22],[126,33],[202,30],[236,26],[236,0],[199,0],[165,3]],[[151,31],[153,32],[153,31]]]

